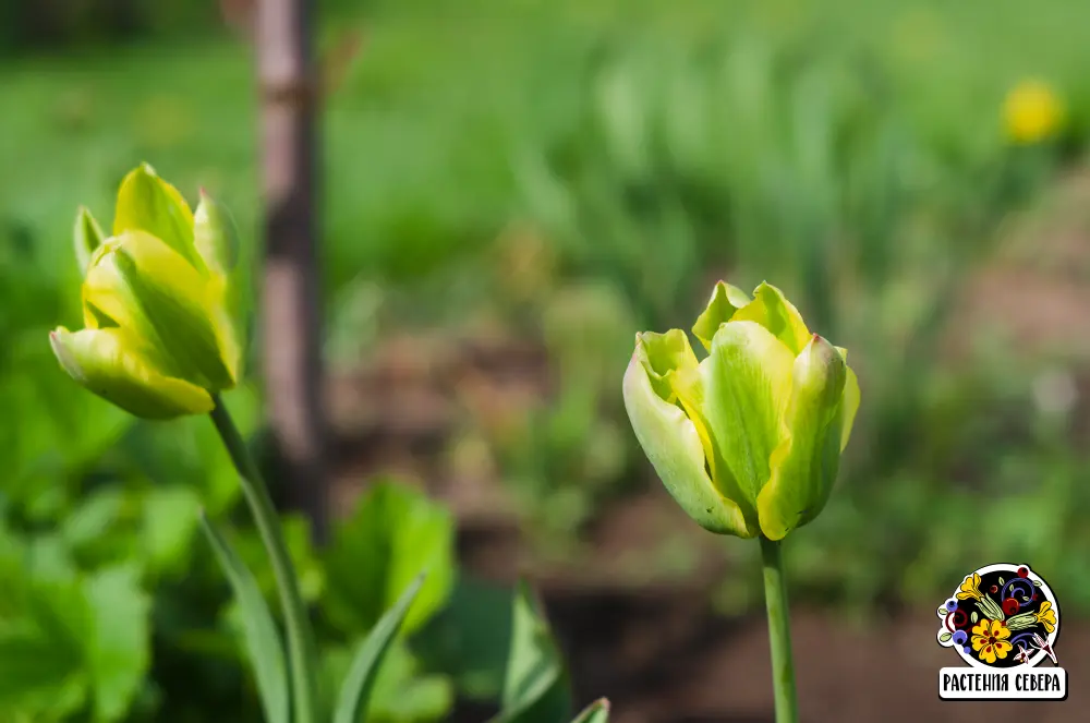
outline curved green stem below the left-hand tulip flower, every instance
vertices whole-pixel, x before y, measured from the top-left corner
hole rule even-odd
[[[257,531],[262,535],[262,542],[265,544],[265,550],[272,563],[272,573],[276,576],[277,591],[280,594],[280,605],[283,607],[284,627],[288,632],[288,659],[295,711],[292,720],[294,723],[318,723],[314,632],[311,629],[306,607],[303,605],[299,579],[288,554],[283,531],[280,529],[280,519],[272,506],[272,499],[269,497],[268,486],[262,479],[261,472],[257,471],[257,466],[254,463],[253,457],[250,456],[246,443],[239,434],[239,429],[234,425],[218,395],[215,397],[215,402],[216,408],[211,410],[211,421],[216,424],[216,431],[223,439],[223,446],[227,447],[231,461],[234,462],[234,468],[239,470],[242,492],[254,515],[254,520],[257,522]]]

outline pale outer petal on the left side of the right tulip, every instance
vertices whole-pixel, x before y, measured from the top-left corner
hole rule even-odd
[[[638,352],[625,373],[623,393],[635,437],[681,509],[711,532],[753,537],[738,505],[712,484],[697,427],[680,407],[654,389]]]

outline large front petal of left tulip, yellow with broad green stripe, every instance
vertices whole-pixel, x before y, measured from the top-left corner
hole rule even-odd
[[[209,389],[233,387],[239,349],[209,277],[144,231],[126,231],[99,251],[84,281],[85,309],[147,339],[155,362],[172,375]]]

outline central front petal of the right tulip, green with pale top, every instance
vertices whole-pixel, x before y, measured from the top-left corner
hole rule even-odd
[[[765,327],[731,321],[715,333],[711,356],[701,364],[712,437],[753,507],[783,437],[779,418],[794,363],[794,354]]]

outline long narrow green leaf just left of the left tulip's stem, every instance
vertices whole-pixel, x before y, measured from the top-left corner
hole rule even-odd
[[[203,513],[201,526],[208,535],[242,608],[243,636],[250,664],[254,668],[254,678],[257,680],[262,708],[265,709],[265,720],[267,723],[288,723],[288,672],[283,662],[283,644],[272,614],[253,574]]]

